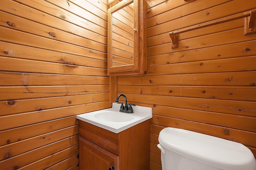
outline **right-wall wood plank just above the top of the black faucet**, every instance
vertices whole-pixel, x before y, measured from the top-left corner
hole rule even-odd
[[[0,88],[1,89],[1,88]],[[119,93],[256,101],[256,87],[119,85]]]

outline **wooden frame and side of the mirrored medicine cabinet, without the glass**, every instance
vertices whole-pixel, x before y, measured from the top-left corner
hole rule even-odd
[[[134,2],[134,62],[130,65],[112,67],[112,14]],[[124,0],[108,9],[108,75],[144,73],[147,69],[145,0]]]

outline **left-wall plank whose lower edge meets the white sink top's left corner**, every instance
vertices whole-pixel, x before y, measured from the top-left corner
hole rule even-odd
[[[28,112],[17,115],[7,115],[0,117],[0,130],[22,127],[34,123],[50,121],[62,117],[74,116],[82,113],[106,109],[110,107],[109,101],[48,109],[36,112]]]

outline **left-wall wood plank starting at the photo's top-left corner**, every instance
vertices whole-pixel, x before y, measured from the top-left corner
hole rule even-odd
[[[7,13],[14,14],[16,16],[20,16],[22,18],[26,18],[28,20],[32,20],[34,22],[38,22],[40,24],[44,24],[47,26],[51,26],[58,30],[63,30],[65,32],[75,34],[84,38],[90,38],[90,40],[94,40],[96,42],[100,42],[103,44],[107,44],[107,38],[97,34],[97,32],[92,32],[90,30],[86,30],[82,27],[78,27],[70,22],[63,22],[60,18],[52,17],[49,14],[44,12],[40,12],[38,10],[34,10],[33,8],[28,8],[27,6],[20,5],[17,2],[11,0],[2,0],[0,9],[2,11],[6,11]],[[15,9],[15,10],[14,10]],[[18,9],[18,10],[16,10]],[[33,14],[33,15],[31,15]],[[7,22],[7,21],[5,21]],[[58,23],[58,24],[56,24]]]

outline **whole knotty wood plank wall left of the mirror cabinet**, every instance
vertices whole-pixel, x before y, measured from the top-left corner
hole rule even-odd
[[[105,109],[107,0],[1,0],[0,169],[78,169],[76,115]]]

